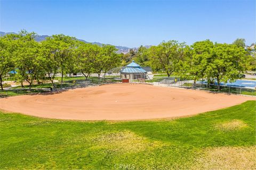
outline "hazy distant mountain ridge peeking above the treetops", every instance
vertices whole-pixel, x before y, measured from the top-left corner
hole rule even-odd
[[[11,33],[16,34],[15,32],[2,32],[2,31],[0,31],[0,36],[4,36],[4,35],[7,35],[7,34],[11,34]],[[47,36],[47,35],[42,35],[42,36],[40,36],[40,35],[38,35],[38,36],[35,38],[35,40],[38,41],[38,42],[40,42],[40,41],[45,40],[46,37],[50,37],[50,36]],[[78,39],[78,40],[79,40],[79,41],[83,41],[84,43],[90,43],[90,42],[85,41],[85,40],[83,40],[83,39]],[[99,45],[99,46],[102,46],[102,45],[103,45],[102,43],[98,43],[98,42],[93,42],[93,43],[91,43],[91,44],[97,44],[97,45]],[[115,47],[118,49],[118,50],[117,50],[117,53],[124,53],[124,54],[125,54],[125,53],[129,53],[129,50],[130,50],[130,49],[138,50],[137,47],[134,47],[134,48],[124,47],[124,46],[115,46]],[[145,46],[145,47],[149,48],[150,46]]]

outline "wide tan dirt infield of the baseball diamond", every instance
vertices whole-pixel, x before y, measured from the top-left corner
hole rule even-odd
[[[147,84],[108,84],[59,94],[3,98],[0,109],[70,120],[139,120],[193,115],[252,99]]]

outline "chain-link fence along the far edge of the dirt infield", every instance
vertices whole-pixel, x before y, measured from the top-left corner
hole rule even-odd
[[[150,80],[151,81],[151,80]],[[238,95],[251,95],[256,96],[256,91],[253,88],[243,88],[243,87],[232,87],[232,86],[220,86],[218,91],[218,86],[214,84],[202,84],[194,83],[192,80],[182,79],[180,77],[170,77],[170,78],[157,78],[153,79],[153,84],[157,86],[166,86],[166,87],[177,87],[177,88],[186,88],[194,90],[205,90],[212,92],[223,92],[227,94],[238,94]],[[113,83],[113,82],[111,82]],[[64,82],[55,82],[54,87],[52,88],[10,88],[5,90],[0,90],[0,97],[8,96],[17,96],[17,95],[32,95],[39,94],[44,92],[58,92],[68,89],[83,88],[89,86],[98,86],[99,79],[88,79],[88,80],[70,80]],[[47,84],[48,87],[51,84]]]

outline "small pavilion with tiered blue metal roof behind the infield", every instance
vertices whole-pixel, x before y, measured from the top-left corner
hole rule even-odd
[[[141,66],[134,61],[126,65],[124,69],[120,71],[121,79],[137,80],[146,79],[147,71],[143,70]]]

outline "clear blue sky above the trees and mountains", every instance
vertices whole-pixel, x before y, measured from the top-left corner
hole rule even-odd
[[[255,43],[255,1],[0,0],[0,31],[63,33],[127,47],[163,40]]]

